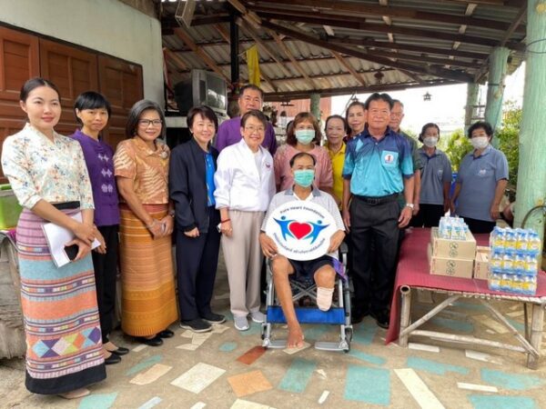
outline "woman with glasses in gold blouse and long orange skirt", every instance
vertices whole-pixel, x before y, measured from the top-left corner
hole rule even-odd
[[[120,205],[121,327],[147,345],[173,336],[178,319],[171,235],[174,210],[168,200],[165,117],[142,100],[127,118],[128,139],[117,145],[114,166]]]

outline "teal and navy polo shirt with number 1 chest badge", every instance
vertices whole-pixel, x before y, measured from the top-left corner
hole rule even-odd
[[[349,141],[343,177],[350,179],[352,195],[380,197],[404,190],[402,177],[413,176],[408,141],[387,128],[381,140],[369,135],[368,128]]]

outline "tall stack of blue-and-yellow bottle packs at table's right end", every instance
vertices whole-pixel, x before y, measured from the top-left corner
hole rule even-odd
[[[534,295],[541,238],[531,229],[495,227],[490,234],[490,290]]]

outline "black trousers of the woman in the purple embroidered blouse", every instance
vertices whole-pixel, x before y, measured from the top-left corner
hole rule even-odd
[[[103,225],[97,226],[97,228],[105,238],[106,254],[97,252],[91,252],[91,254],[95,268],[96,304],[98,304],[102,342],[106,344],[108,334],[112,331],[116,305],[117,255],[119,251],[117,232],[119,225]]]

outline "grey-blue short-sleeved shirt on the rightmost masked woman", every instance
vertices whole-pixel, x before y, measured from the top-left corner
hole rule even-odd
[[[455,212],[461,217],[492,222],[490,207],[501,179],[508,179],[508,161],[498,149],[489,145],[478,157],[473,152],[464,156],[457,176],[460,193]]]

